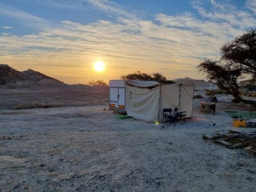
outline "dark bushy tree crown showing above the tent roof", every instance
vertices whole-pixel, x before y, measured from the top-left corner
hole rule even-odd
[[[175,83],[172,80],[167,80],[166,77],[160,73],[153,73],[152,75],[150,75],[150,74],[142,73],[140,71],[137,71],[135,73],[129,73],[127,75],[122,75],[121,78],[126,80],[158,81],[160,83],[165,83],[165,84]]]

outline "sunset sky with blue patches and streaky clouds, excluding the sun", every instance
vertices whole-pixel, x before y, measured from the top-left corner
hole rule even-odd
[[[1,0],[0,63],[71,84],[136,71],[202,79],[200,60],[255,27],[256,0]]]

